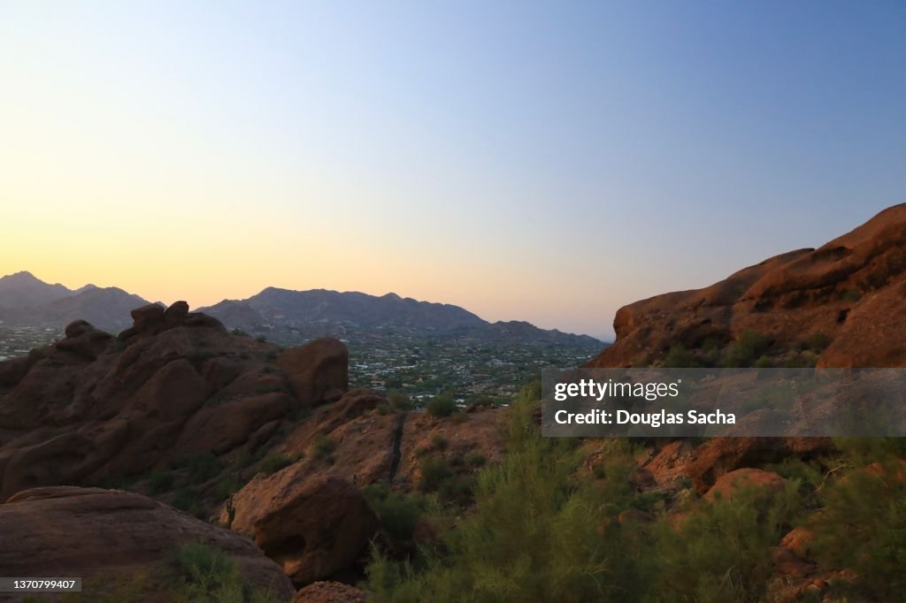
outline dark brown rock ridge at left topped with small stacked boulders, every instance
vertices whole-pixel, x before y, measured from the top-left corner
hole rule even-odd
[[[224,454],[347,386],[337,340],[284,351],[296,359],[281,362],[284,374],[275,346],[230,335],[186,302],[149,304],[132,318],[116,338],[72,322],[43,354],[0,363],[0,502]]]

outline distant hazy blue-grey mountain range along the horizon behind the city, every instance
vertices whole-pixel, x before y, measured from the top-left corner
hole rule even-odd
[[[148,303],[117,287],[88,284],[72,290],[60,283],[43,282],[28,272],[0,278],[0,321],[7,326],[62,328],[83,319],[101,329],[119,330],[131,324],[131,310]],[[246,300],[224,300],[199,311],[230,328],[252,333],[283,330],[292,332],[294,339],[368,333],[449,335],[483,343],[601,346],[601,341],[587,335],[543,330],[524,321],[491,323],[455,305],[419,302],[395,293],[375,296],[267,287]]]

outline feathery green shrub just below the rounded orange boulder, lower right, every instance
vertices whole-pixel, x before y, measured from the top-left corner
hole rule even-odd
[[[780,491],[740,488],[727,499],[697,504],[679,526],[655,527],[652,601],[765,600],[774,571],[771,547],[798,521],[798,484]]]

